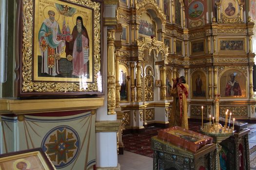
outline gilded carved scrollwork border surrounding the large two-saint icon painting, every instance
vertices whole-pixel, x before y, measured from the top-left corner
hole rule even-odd
[[[34,7],[33,0],[23,0],[23,25],[22,25],[22,92],[98,92],[97,74],[100,71],[100,3],[91,0],[72,0],[72,2],[85,5],[94,10],[94,83],[87,83],[87,88],[81,88],[78,83],[56,83],[56,82],[32,82],[32,43]]]

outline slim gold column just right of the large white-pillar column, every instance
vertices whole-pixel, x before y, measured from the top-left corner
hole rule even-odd
[[[119,84],[119,49],[116,49],[116,107],[120,107],[120,84]]]

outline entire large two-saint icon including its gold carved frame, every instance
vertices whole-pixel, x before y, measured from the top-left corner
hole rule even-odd
[[[17,97],[102,94],[101,1],[19,2]]]

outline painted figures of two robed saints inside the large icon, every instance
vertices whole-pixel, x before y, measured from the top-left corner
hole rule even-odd
[[[71,10],[67,5],[61,5],[61,7],[63,7],[63,10],[59,11],[61,15],[71,17],[75,13],[75,10]],[[68,25],[66,26],[65,19],[60,31],[55,15],[56,12],[49,10],[49,17],[42,22],[39,29],[39,49],[42,56],[41,73],[50,76],[60,75],[60,54],[65,51],[66,59],[72,61],[71,74],[74,77],[86,76],[88,74],[89,37],[83,24],[83,18],[80,16],[76,18],[76,25],[70,34],[70,28]]]

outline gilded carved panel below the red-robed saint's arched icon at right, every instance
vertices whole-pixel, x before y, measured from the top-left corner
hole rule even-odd
[[[220,116],[225,116],[226,110],[229,109],[232,112],[233,116],[248,116],[248,107],[247,105],[230,105],[230,106],[220,106],[219,114]]]

